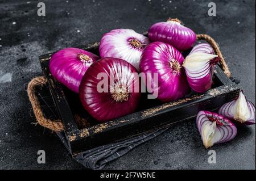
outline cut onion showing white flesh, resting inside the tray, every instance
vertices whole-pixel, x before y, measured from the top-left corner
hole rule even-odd
[[[204,92],[212,86],[213,69],[218,56],[207,43],[196,45],[185,58],[183,67],[187,74],[189,86],[195,92]]]

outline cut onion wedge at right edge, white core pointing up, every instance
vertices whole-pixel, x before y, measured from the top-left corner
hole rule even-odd
[[[253,103],[246,100],[242,91],[240,91],[236,100],[232,100],[221,106],[218,113],[242,124],[255,124],[255,106]]]

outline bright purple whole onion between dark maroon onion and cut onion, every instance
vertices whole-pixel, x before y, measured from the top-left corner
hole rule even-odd
[[[142,80],[147,90],[158,92],[157,98],[162,102],[170,102],[187,95],[191,89],[181,66],[183,61],[182,54],[172,45],[162,42],[147,45],[140,62],[141,73],[146,75]],[[171,68],[174,62],[180,68],[178,71]],[[158,84],[154,81],[154,73],[158,73]]]

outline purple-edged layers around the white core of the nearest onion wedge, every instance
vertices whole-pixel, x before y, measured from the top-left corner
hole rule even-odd
[[[202,136],[202,140],[203,140],[202,126],[205,121],[211,121],[211,122],[216,121],[218,131],[223,133],[222,136],[220,137],[220,140],[218,140],[217,142],[214,142],[214,144],[221,144],[224,142],[228,142],[232,140],[234,137],[236,137],[237,135],[236,125],[234,125],[232,121],[230,121],[226,117],[210,111],[200,111],[196,117],[196,125],[197,125],[197,129],[199,130]]]

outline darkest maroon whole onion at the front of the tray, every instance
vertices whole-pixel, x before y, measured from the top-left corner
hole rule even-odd
[[[108,76],[108,91],[97,90],[98,83],[102,81],[102,78],[97,79],[99,73]],[[110,83],[110,79],[113,80],[118,73],[122,73],[122,76],[118,76],[114,83]],[[98,121],[109,121],[133,113],[141,97],[141,83],[134,73],[137,73],[134,66],[119,58],[106,57],[94,62],[82,78],[79,89],[80,100],[85,110]],[[113,98],[110,87],[117,85],[125,86],[129,90],[127,99],[117,102]]]

